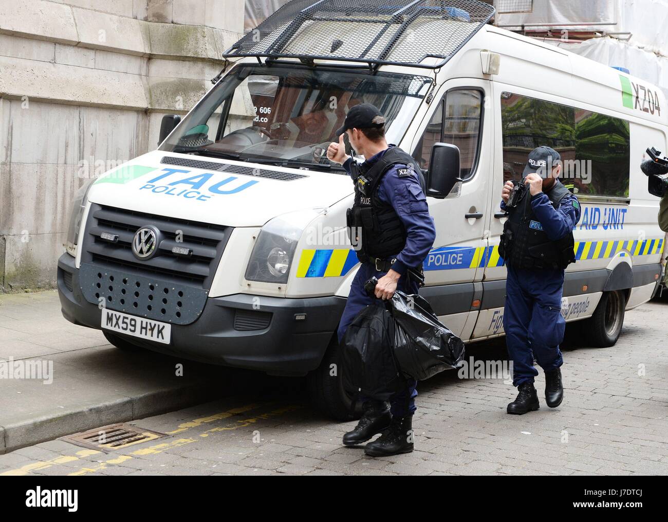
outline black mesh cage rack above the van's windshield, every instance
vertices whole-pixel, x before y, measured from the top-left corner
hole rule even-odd
[[[493,15],[477,0],[291,0],[223,56],[438,69]]]

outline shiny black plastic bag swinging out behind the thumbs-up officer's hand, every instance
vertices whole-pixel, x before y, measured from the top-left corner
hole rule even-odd
[[[404,374],[425,380],[464,360],[464,342],[438,320],[424,297],[397,290],[389,303],[394,354]]]

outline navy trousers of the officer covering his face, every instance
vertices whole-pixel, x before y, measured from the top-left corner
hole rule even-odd
[[[513,386],[534,382],[538,371],[556,370],[564,360],[559,344],[566,321],[561,315],[563,270],[508,268],[503,327],[508,355],[513,364]]]

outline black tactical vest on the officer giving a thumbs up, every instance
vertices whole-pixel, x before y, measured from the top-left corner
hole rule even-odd
[[[418,173],[420,185],[424,190],[424,176],[417,162],[398,147],[391,147],[372,166],[361,164],[355,176],[355,204],[347,212],[348,234],[351,244],[356,249],[357,259],[365,263],[371,259],[387,259],[397,255],[406,244],[406,230],[401,219],[391,205],[378,198],[378,188],[385,173],[395,164],[408,165]],[[354,171],[353,171],[354,173]]]

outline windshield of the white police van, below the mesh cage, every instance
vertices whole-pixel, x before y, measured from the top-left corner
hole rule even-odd
[[[218,82],[160,150],[305,168],[327,160],[348,110],[375,105],[398,143],[432,80],[424,76],[305,66],[240,64]],[[346,140],[347,142],[347,140]],[[350,146],[347,144],[348,152]]]

